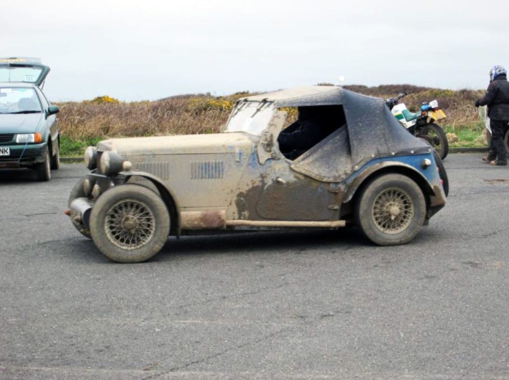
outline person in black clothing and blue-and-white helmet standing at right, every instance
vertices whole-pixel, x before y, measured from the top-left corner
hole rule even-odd
[[[500,65],[490,70],[490,85],[486,95],[475,101],[476,107],[484,105],[488,106],[492,138],[490,152],[483,157],[483,161],[491,165],[506,166],[504,136],[509,123],[509,82],[506,70]]]

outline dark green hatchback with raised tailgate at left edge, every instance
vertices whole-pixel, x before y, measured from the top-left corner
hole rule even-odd
[[[39,181],[60,167],[59,107],[42,93],[49,67],[35,58],[0,58],[0,168],[31,168]]]

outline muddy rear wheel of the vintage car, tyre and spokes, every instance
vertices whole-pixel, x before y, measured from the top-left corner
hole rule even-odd
[[[384,174],[362,190],[355,204],[355,219],[364,235],[378,245],[411,241],[426,217],[420,187],[402,174]]]

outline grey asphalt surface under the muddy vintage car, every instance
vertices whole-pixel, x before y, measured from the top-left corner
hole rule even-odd
[[[2,379],[507,379],[509,167],[445,160],[409,245],[353,229],[168,239],[115,264],[63,214],[86,171],[0,171]]]

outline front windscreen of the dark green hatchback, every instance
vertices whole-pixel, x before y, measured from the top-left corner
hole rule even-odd
[[[0,113],[41,112],[41,103],[31,87],[0,87]]]

